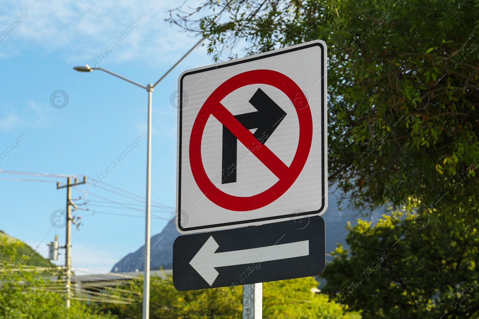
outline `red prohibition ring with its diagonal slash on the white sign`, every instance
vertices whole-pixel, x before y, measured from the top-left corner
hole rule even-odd
[[[273,75],[273,76],[272,76]],[[291,165],[286,166],[267,146],[260,143],[220,102],[234,90],[252,84],[266,84],[280,89],[293,103],[299,121],[299,140]],[[297,84],[284,74],[273,70],[251,70],[223,82],[199,110],[193,123],[189,141],[190,167],[200,190],[216,205],[234,211],[262,208],[281,197],[296,181],[308,159],[313,136],[313,123],[306,97]],[[201,140],[208,118],[213,115],[225,125],[250,152],[273,172],[279,180],[263,192],[240,197],[229,195],[217,188],[206,175],[201,155]],[[256,145],[256,146],[255,146]]]

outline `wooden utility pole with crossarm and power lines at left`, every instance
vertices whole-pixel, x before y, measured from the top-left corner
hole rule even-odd
[[[87,176],[83,176],[83,182],[79,183],[78,178],[75,178],[75,183],[71,184],[71,177],[67,177],[67,185],[60,186],[60,182],[57,182],[57,189],[67,187],[67,216],[66,216],[66,229],[67,239],[65,242],[65,287],[67,288],[67,301],[66,306],[70,308],[70,288],[71,288],[71,224],[70,220],[74,222],[71,217],[71,206],[77,209],[77,205],[71,201],[71,188],[72,186],[85,184],[87,182]]]

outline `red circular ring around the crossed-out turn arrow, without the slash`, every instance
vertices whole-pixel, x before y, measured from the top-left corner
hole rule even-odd
[[[234,90],[251,84],[271,85],[283,91],[291,100],[299,120],[299,143],[285,177],[259,194],[239,197],[219,190],[208,178],[201,158],[201,140],[206,122],[220,101]],[[292,79],[272,70],[252,70],[240,73],[223,82],[211,93],[196,116],[190,137],[190,166],[193,177],[200,190],[209,200],[224,209],[234,211],[259,209],[274,202],[293,185],[306,164],[313,138],[313,121],[309,104],[306,107],[304,107],[304,103],[296,105],[295,101],[298,98],[307,101],[303,91]]]

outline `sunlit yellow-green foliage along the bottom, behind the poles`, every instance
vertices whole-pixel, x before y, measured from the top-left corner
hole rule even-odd
[[[106,302],[87,303],[71,300],[65,308],[63,293],[45,291],[49,281],[35,272],[22,271],[28,255],[25,244],[0,237],[0,253],[9,267],[1,270],[0,319],[107,319],[141,318],[143,281],[126,281],[121,286],[132,304]],[[312,277],[264,283],[263,313],[271,319],[358,319],[356,313],[343,313],[344,307],[329,301],[324,295],[313,294],[310,289],[317,286]],[[117,290],[115,290],[117,289]],[[119,294],[120,288],[106,289],[105,293]],[[100,296],[102,297],[102,295]],[[112,296],[113,297],[113,296]],[[109,298],[113,299],[113,298]],[[193,291],[178,291],[174,288],[171,275],[165,278],[151,277],[150,318],[162,319],[233,319],[241,318],[242,287],[225,287]],[[324,316],[323,316],[324,315]]]

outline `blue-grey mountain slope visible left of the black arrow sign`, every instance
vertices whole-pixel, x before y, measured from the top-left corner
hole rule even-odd
[[[180,236],[180,233],[176,230],[174,220],[170,220],[163,231],[156,234],[150,239],[150,269],[157,270],[160,267],[163,269],[171,269],[173,264],[173,242],[176,237]],[[145,251],[145,245],[141,246],[135,253],[129,253],[123,257],[118,263],[116,263],[111,272],[129,272],[128,267],[135,268],[139,260],[142,260],[143,253]],[[140,264],[139,271],[143,271],[143,262]]]

